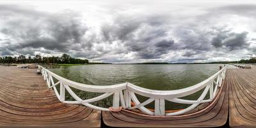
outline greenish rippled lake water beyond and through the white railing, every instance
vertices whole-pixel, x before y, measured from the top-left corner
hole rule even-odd
[[[222,64],[175,64],[175,65],[81,65],[51,68],[50,70],[62,77],[84,84],[111,85],[129,82],[152,90],[177,90],[204,81],[220,70]],[[73,89],[74,90],[74,89]],[[74,90],[77,95],[88,99],[95,93],[84,93]],[[199,93],[184,97],[196,99]],[[67,99],[72,99],[67,95]],[[139,97],[141,102],[145,97]],[[111,97],[94,103],[98,106],[111,106]],[[148,108],[154,108],[149,104]],[[166,102],[168,109],[185,108],[186,104]]]

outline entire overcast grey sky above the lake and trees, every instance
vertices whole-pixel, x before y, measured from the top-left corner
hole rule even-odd
[[[255,12],[253,1],[0,0],[0,56],[239,60],[256,54]]]

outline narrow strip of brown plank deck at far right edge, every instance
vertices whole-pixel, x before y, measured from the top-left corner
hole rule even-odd
[[[256,127],[256,68],[230,70],[229,125]]]

